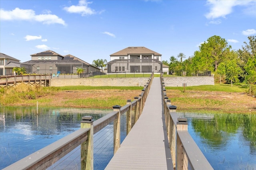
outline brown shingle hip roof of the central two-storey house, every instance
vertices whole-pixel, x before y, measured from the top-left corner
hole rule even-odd
[[[146,47],[127,47],[125,49],[122,49],[116,53],[113,53],[111,55],[129,55],[129,54],[154,54],[154,55],[161,55],[159,53],[156,53],[155,51],[152,51]],[[110,55],[110,56],[111,56]]]

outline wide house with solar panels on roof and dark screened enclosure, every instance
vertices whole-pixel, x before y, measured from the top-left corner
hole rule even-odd
[[[31,60],[21,63],[28,73],[36,74],[73,74],[76,68],[84,68],[84,73],[99,72],[97,68],[72,55],[62,56],[54,51],[48,50],[41,53],[32,54]]]

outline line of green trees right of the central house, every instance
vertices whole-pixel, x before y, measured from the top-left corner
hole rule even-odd
[[[256,95],[256,36],[249,36],[241,49],[232,50],[228,42],[217,35],[204,41],[194,55],[185,57],[179,53],[163,61],[169,66],[170,74],[178,76],[197,76],[206,71],[214,74],[216,83],[246,83]]]

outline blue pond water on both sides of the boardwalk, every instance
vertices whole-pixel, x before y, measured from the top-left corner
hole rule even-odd
[[[0,169],[80,128],[81,117],[98,119],[111,110],[0,108]],[[256,170],[256,115],[182,114],[198,147],[216,170]],[[200,118],[198,118],[200,117]],[[203,118],[202,118],[203,117]],[[121,118],[121,140],[126,136]],[[94,135],[94,168],[104,169],[113,156],[113,125]],[[80,150],[49,169],[80,168]],[[70,163],[68,163],[70,161]]]

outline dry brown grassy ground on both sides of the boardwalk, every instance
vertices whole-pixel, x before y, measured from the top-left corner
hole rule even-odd
[[[40,106],[112,109],[111,106],[102,107],[100,104],[92,106],[86,103],[81,105],[76,103],[67,104],[67,102],[74,99],[108,100],[109,98],[111,100],[111,98],[116,98],[118,101],[120,100],[120,103],[114,105],[124,106],[128,99],[133,101],[134,97],[139,96],[141,92],[141,90],[70,90],[54,92],[54,95],[42,96],[37,100],[42,101]],[[200,91],[186,91],[183,93],[179,90],[167,90],[167,96],[172,105],[177,106],[177,111],[256,114],[256,98],[244,93]],[[28,100],[20,102],[19,105],[34,105],[34,102]]]

